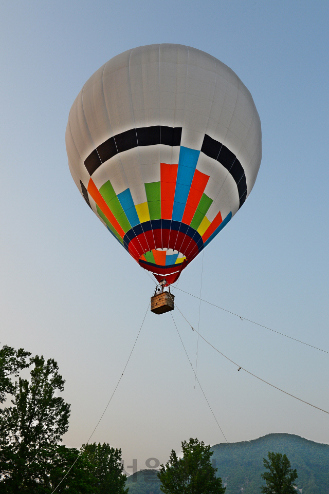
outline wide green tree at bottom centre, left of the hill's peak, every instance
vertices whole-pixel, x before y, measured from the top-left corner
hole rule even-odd
[[[165,494],[224,494],[225,487],[222,479],[216,478],[217,468],[213,468],[210,462],[210,445],[203,441],[190,439],[187,443],[182,441],[181,449],[183,457],[177,457],[172,449],[170,459],[160,465],[158,478],[161,481],[160,489]]]

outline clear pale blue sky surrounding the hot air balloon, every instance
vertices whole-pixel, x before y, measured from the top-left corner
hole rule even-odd
[[[85,81],[124,50],[181,43],[251,91],[263,160],[243,208],[204,251],[203,298],[329,351],[326,1],[11,1],[1,15],[1,343],[57,360],[68,446],[94,429],[153,283],[89,210],[65,151]],[[178,287],[199,294],[202,255]],[[176,290],[195,326],[198,302]],[[174,317],[193,364],[196,335]],[[148,313],[93,440],[125,464],[197,437],[223,442],[169,314]],[[329,355],[202,303],[200,332],[266,381],[329,410]],[[289,432],[329,443],[328,415],[257,381],[199,342],[198,376],[228,441]]]

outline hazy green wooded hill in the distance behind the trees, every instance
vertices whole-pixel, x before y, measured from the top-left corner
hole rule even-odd
[[[252,441],[216,444],[211,450],[226,494],[259,494],[263,458],[267,457],[268,451],[285,453],[291,467],[297,468],[297,487],[301,494],[329,494],[328,444],[308,441],[294,434],[267,434]],[[161,494],[155,473],[141,470],[130,476],[126,482],[129,494]]]

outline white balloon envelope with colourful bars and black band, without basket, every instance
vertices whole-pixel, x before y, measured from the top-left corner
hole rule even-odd
[[[90,77],[71,107],[66,149],[88,206],[169,286],[250,194],[261,123],[225,64],[189,46],[155,44],[115,56]]]

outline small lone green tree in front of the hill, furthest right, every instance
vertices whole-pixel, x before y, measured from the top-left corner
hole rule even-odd
[[[268,452],[268,460],[263,458],[264,467],[269,471],[261,477],[266,485],[261,487],[263,494],[296,494],[294,482],[297,479],[297,470],[290,468],[290,462],[285,454]]]

